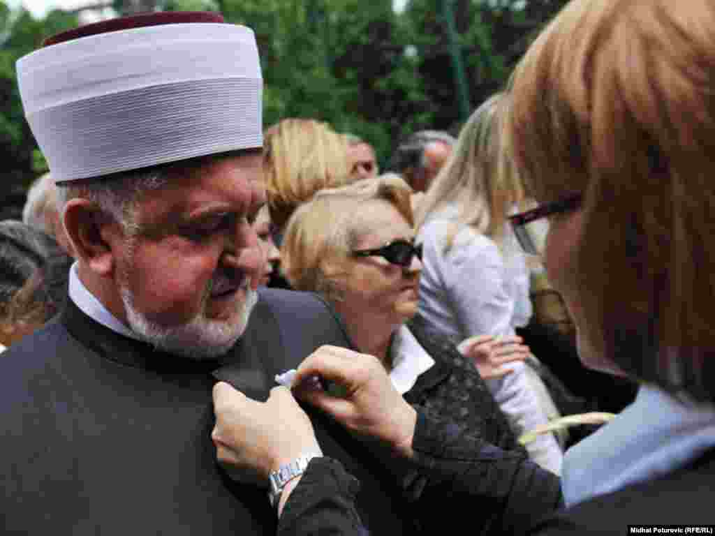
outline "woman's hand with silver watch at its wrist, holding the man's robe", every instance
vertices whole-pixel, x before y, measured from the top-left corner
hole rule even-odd
[[[320,452],[310,419],[285,387],[271,389],[266,402],[256,402],[219,382],[213,396],[211,439],[217,460],[235,480],[265,486],[280,465]]]

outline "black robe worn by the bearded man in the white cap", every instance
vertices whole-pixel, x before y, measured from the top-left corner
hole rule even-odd
[[[220,362],[155,351],[69,302],[58,319],[0,354],[0,512],[4,533],[275,535],[265,490],[215,461],[211,389],[226,379],[265,399],[273,376],[321,344],[349,347],[310,294],[261,291],[240,342]],[[311,415],[326,455],[360,477],[374,534],[409,533],[399,490],[377,480],[364,446]]]

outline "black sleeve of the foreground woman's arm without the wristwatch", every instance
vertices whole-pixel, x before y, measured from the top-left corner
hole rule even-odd
[[[445,517],[461,520],[471,534],[523,534],[562,504],[556,475],[523,452],[464,433],[453,420],[418,412],[413,450],[401,484],[415,515],[429,512],[421,520],[427,534],[436,534]]]

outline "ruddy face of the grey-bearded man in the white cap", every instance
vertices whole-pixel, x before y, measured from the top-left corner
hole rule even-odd
[[[172,169],[166,187],[147,192],[137,211],[140,231],[117,254],[132,329],[191,357],[230,349],[265,265],[252,227],[264,202],[260,154]]]

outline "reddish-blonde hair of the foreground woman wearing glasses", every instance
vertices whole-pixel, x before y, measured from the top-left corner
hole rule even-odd
[[[594,349],[715,400],[715,4],[575,0],[512,80],[540,201],[583,194],[574,288]]]

